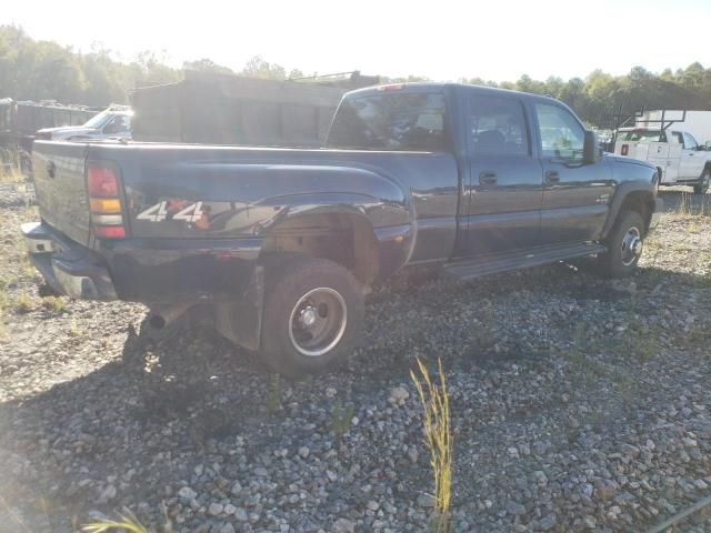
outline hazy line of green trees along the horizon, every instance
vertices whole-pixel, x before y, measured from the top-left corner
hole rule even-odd
[[[132,61],[113,59],[110,50],[79,53],[70,47],[30,38],[21,28],[0,26],[0,98],[16,100],[57,100],[62,103],[108,105],[128,103],[129,93],[142,84],[168,83],[182,79],[182,70],[238,73],[286,80],[302,78],[300,70],[287,71],[261,57],[252,58],[240,71],[209,59],[186,61],[182,69],[166,64],[161,54],[146,51]],[[422,77],[388,78],[383,81],[428,81]],[[544,81],[522,76],[514,82],[494,82],[481,78],[457,81],[549,94],[573,108],[588,123],[609,127],[610,115],[645,109],[711,109],[711,68],[694,62],[685,69],[654,73],[634,67],[625,76],[601,70],[588,77]]]

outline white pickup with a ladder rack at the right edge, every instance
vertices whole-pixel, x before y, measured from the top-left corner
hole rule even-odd
[[[697,194],[711,185],[711,151],[681,129],[620,128],[614,153],[639,159],[661,169],[662,185],[691,185]]]

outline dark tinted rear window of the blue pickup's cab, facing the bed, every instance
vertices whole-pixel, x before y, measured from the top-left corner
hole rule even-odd
[[[448,150],[443,92],[383,91],[349,97],[333,118],[327,145],[353,150]]]

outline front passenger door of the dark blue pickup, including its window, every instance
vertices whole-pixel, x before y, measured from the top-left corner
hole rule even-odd
[[[541,241],[562,244],[597,240],[614,192],[604,158],[583,161],[584,128],[562,104],[532,103],[543,167]]]

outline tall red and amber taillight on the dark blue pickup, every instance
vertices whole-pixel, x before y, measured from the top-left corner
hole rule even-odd
[[[99,239],[123,239],[126,228],[117,168],[107,163],[89,163],[87,192],[93,234]]]

